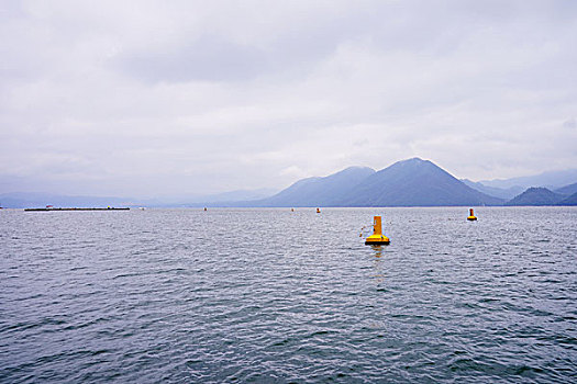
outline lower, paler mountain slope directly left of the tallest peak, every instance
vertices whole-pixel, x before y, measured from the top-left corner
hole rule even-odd
[[[330,206],[365,180],[375,170],[351,167],[324,178],[302,179],[279,193],[259,201],[246,202],[249,206]]]

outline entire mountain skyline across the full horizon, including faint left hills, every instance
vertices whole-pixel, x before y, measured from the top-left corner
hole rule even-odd
[[[555,174],[561,176],[555,179]],[[545,172],[531,178],[557,187],[553,191],[536,184],[521,185],[500,181],[504,188],[485,182],[458,180],[430,160],[412,158],[376,171],[349,167],[326,177],[299,180],[287,189],[262,197],[266,190],[234,191],[203,196],[196,202],[168,203],[122,197],[62,196],[41,193],[0,194],[4,207],[54,206],[478,206],[478,205],[576,205],[577,171]],[[559,180],[573,184],[559,185]],[[561,187],[561,188],[558,188]]]

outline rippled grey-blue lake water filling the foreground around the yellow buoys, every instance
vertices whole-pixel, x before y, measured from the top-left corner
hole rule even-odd
[[[575,382],[577,208],[475,213],[0,211],[0,382]]]

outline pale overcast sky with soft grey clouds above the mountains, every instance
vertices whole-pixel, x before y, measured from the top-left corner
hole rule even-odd
[[[415,156],[473,180],[577,165],[573,0],[0,1],[0,57],[7,190],[280,189]]]

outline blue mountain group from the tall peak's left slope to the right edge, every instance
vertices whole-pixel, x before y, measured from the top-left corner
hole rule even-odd
[[[558,172],[557,172],[558,173]],[[570,172],[569,172],[570,173]],[[543,173],[547,182],[555,182]],[[566,178],[567,172],[563,173]],[[537,180],[535,177],[533,180]],[[576,179],[577,180],[577,176]],[[286,190],[262,200],[242,202],[236,206],[458,206],[458,205],[573,205],[570,192],[577,183],[555,192],[524,188],[488,187],[458,180],[430,160],[412,158],[398,161],[382,170],[351,167],[324,178],[297,181]],[[548,194],[543,197],[543,194]],[[234,204],[233,204],[234,205]],[[229,203],[229,206],[231,204]]]

